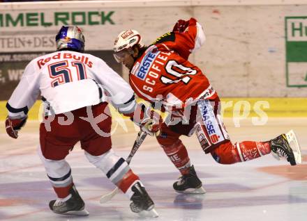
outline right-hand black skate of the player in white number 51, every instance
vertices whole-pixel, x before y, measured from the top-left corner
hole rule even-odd
[[[158,217],[158,213],[154,209],[153,201],[145,188],[137,182],[131,190],[133,191],[133,196],[130,198],[132,201],[130,203],[131,211],[145,217]]]

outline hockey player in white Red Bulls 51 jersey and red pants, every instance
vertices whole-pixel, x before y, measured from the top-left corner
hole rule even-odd
[[[6,131],[17,138],[38,95],[43,98],[45,117],[40,124],[38,154],[57,194],[50,209],[59,214],[89,214],[65,160],[80,141],[89,162],[132,201],[133,212],[155,214],[153,201],[139,177],[112,150],[112,118],[107,102],[151,134],[157,130],[152,126],[153,117],[149,117],[152,112],[136,103],[128,83],[103,60],[83,53],[84,35],[80,28],[62,26],[56,41],[56,52],[35,58],[27,65],[6,105]]]

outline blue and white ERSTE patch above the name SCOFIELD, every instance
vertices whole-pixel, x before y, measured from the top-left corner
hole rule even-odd
[[[153,61],[156,59],[158,54],[160,54],[160,51],[158,50],[152,50],[148,52],[142,59],[141,63],[135,64],[131,73],[133,73],[139,79],[144,81],[147,74],[149,73],[149,69],[151,65],[153,64]]]

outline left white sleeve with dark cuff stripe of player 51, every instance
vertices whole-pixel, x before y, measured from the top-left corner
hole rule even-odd
[[[39,72],[36,71],[33,61],[31,61],[24,74],[15,88],[13,94],[10,96],[6,108],[8,109],[8,116],[12,119],[19,119],[27,117],[29,109],[33,106],[39,95]]]

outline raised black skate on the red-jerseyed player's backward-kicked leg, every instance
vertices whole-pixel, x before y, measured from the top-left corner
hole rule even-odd
[[[294,131],[289,131],[269,141],[272,155],[280,160],[286,158],[291,165],[301,163],[301,149]]]

